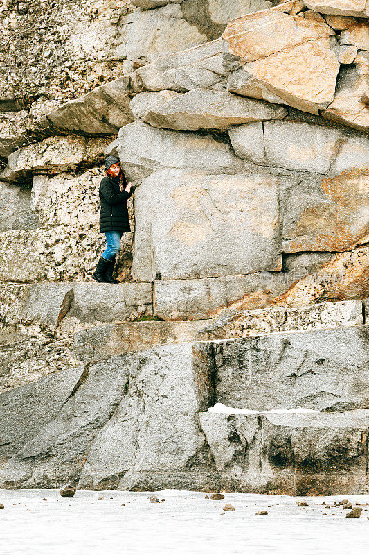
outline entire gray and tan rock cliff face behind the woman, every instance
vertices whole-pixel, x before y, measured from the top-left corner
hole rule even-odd
[[[273,4],[3,1],[2,487],[368,491],[369,8]]]

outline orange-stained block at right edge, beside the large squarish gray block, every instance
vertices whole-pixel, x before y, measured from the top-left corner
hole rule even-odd
[[[334,252],[366,244],[368,186],[369,169],[363,167],[286,189],[283,251]]]

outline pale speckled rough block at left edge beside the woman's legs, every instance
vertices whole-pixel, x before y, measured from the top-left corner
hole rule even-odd
[[[3,232],[0,280],[26,283],[85,280],[91,275],[104,244],[98,232],[74,232],[63,225]]]

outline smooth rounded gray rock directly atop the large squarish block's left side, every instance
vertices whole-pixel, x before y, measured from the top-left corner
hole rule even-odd
[[[204,173],[236,173],[242,169],[228,144],[210,135],[155,129],[136,121],[120,129],[120,163],[127,178],[142,180],[163,167],[201,169]]]

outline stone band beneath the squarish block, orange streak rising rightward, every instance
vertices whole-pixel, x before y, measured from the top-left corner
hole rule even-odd
[[[316,257],[319,254],[320,257]],[[224,310],[267,306],[301,307],[316,302],[352,300],[369,295],[369,249],[344,253],[314,253],[314,262],[290,271],[228,275],[199,280],[155,280],[154,314],[165,320],[215,318]]]

